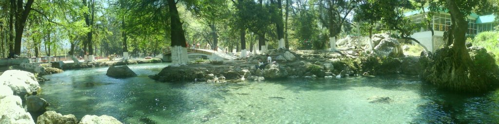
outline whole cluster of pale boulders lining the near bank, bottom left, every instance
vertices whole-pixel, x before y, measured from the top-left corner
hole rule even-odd
[[[47,101],[36,96],[41,91],[33,73],[7,70],[0,75],[0,124],[35,124],[30,113],[43,113]],[[36,124],[122,124],[110,116],[84,116],[78,123],[74,115],[48,111]]]

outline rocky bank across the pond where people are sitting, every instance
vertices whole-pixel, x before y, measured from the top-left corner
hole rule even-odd
[[[358,75],[402,73],[418,75],[421,66],[419,57],[378,57],[363,54],[356,49],[338,51],[285,51],[267,52],[275,62],[263,69],[256,68],[258,60],[266,56],[257,55],[245,60],[226,61],[223,64],[189,63],[187,66],[168,66],[152,79],[161,82],[208,81],[239,82],[278,78],[332,78]]]

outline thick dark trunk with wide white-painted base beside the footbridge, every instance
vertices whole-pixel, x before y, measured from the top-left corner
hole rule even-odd
[[[186,38],[175,0],[168,0],[168,9],[171,21],[172,63],[174,66],[185,65],[188,62]]]

